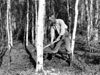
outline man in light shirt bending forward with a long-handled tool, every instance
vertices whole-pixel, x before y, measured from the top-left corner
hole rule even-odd
[[[63,42],[65,42],[65,48],[68,51],[68,54],[70,54],[71,53],[71,51],[70,51],[70,38],[69,38],[68,31],[67,31],[67,29],[68,29],[67,25],[65,24],[65,22],[62,19],[56,19],[54,17],[54,15],[49,17],[49,20],[52,22],[51,43],[53,44],[54,41],[58,41],[56,43],[54,50],[57,47],[58,47],[57,49],[59,49],[61,42],[63,41]],[[56,34],[58,34],[58,36]],[[55,40],[55,38],[56,38],[56,40]]]

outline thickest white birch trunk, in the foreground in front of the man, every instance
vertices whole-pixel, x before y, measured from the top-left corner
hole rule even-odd
[[[43,40],[45,23],[45,0],[39,0],[38,25],[36,34],[37,65],[36,72],[43,72]]]

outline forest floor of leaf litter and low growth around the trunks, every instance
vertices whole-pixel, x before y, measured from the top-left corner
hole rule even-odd
[[[31,53],[34,51],[31,45],[29,49]],[[15,44],[11,49],[11,60],[8,60],[6,54],[3,57],[0,75],[38,75],[29,58],[23,44]],[[69,66],[65,60],[54,55],[51,59],[44,60],[44,74],[39,75],[100,75],[99,60],[99,56],[89,58],[84,51],[76,51],[74,62]],[[8,61],[10,61],[9,67]]]

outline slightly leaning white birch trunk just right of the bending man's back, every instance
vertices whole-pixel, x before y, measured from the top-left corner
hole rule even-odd
[[[77,29],[78,3],[79,3],[79,0],[76,0],[76,3],[75,3],[75,20],[74,20],[74,29],[73,29],[72,42],[71,42],[71,43],[72,43],[72,44],[71,44],[72,60],[73,60],[73,57],[74,57],[75,35],[76,35],[76,29]]]

